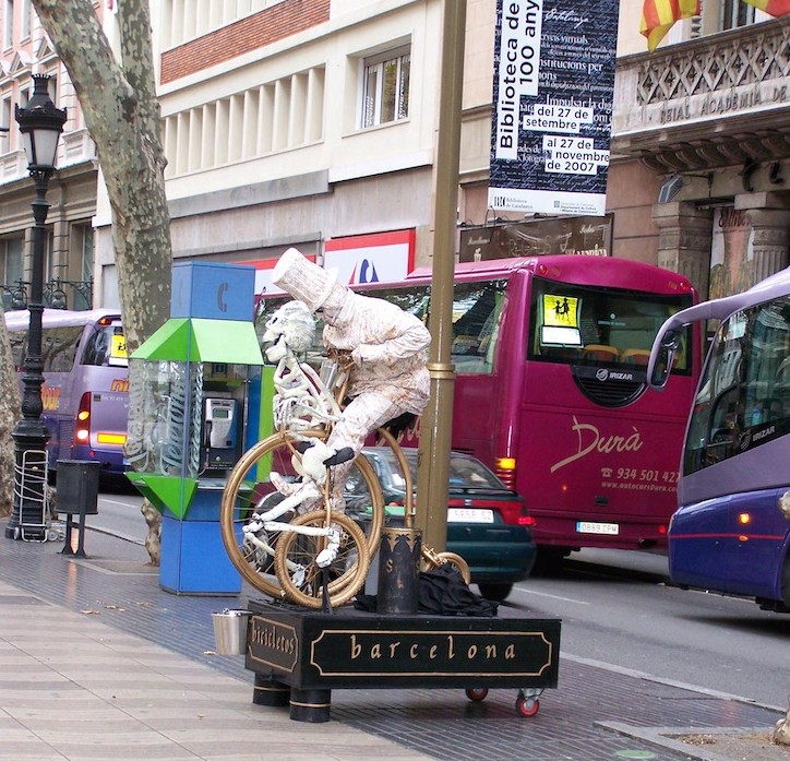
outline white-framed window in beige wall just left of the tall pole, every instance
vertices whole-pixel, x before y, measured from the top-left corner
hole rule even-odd
[[[409,115],[408,47],[363,61],[361,127],[374,127]]]

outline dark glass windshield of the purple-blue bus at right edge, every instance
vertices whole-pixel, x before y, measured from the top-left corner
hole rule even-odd
[[[719,326],[694,400],[683,474],[790,430],[790,296],[737,312]]]

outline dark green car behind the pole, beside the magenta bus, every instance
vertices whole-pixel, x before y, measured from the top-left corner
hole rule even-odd
[[[404,478],[388,447],[366,447],[362,453],[375,468],[384,491],[388,521],[403,521]],[[417,480],[417,450],[404,449]],[[357,476],[355,477],[355,473]],[[468,563],[471,581],[487,599],[501,602],[513,584],[529,575],[536,547],[524,500],[479,460],[453,452],[450,459],[447,550]],[[351,471],[346,494],[349,514],[364,510],[367,487]]]

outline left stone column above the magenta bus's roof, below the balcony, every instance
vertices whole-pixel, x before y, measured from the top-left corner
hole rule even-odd
[[[659,228],[658,265],[685,275],[701,299],[708,295],[714,212],[695,203],[656,203],[653,221]]]

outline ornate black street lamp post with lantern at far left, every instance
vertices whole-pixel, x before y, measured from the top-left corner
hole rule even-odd
[[[41,314],[44,312],[44,250],[49,203],[47,188],[55,171],[58,140],[65,123],[65,109],[56,108],[47,88],[49,76],[34,74],[33,97],[25,108],[16,106],[27,155],[27,169],[33,177],[36,198],[33,206],[33,266],[31,269],[31,298],[27,309],[31,322],[27,331],[27,352],[22,365],[22,419],[14,427],[14,499],[11,519],[5,526],[5,538],[44,539],[44,504],[46,496],[46,448],[49,432],[41,420]],[[26,526],[31,526],[29,530]]]

